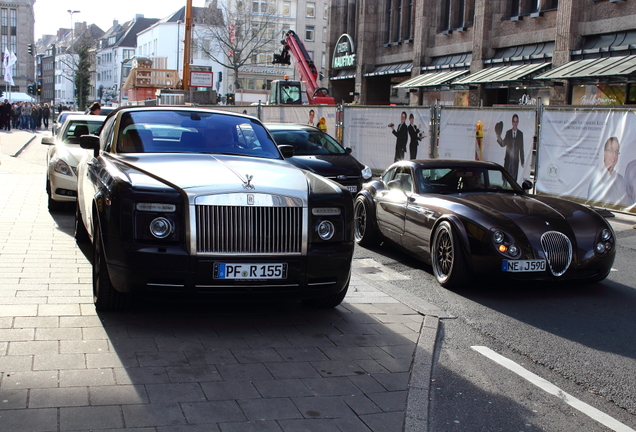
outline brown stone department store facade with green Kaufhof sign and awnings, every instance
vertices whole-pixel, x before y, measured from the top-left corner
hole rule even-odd
[[[329,17],[336,100],[636,102],[633,1],[333,0]]]

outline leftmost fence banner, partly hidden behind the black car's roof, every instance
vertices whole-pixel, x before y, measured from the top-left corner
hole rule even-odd
[[[336,136],[334,105],[263,105],[263,123],[301,123],[316,126],[332,137]]]

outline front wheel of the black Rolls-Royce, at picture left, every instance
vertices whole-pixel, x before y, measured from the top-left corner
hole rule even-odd
[[[110,281],[102,232],[97,222],[93,230],[93,303],[100,311],[117,311],[130,306],[130,296],[117,291]]]

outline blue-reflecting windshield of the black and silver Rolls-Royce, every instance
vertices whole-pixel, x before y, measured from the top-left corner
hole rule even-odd
[[[276,144],[254,119],[202,111],[122,114],[119,153],[239,154],[280,159]]]

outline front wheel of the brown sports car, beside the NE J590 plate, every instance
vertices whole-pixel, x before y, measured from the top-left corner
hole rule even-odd
[[[439,224],[433,234],[431,260],[433,274],[444,288],[457,288],[470,280],[462,246],[449,222]]]

